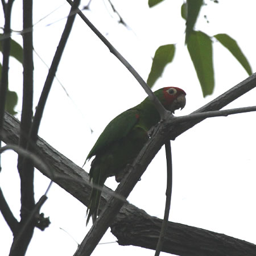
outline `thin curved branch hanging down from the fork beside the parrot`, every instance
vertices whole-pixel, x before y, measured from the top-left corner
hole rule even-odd
[[[166,163],[167,163],[167,184],[166,184],[166,207],[164,209],[164,218],[162,222],[162,228],[159,234],[158,245],[156,246],[155,256],[159,256],[162,251],[164,236],[168,225],[168,218],[171,208],[171,197],[172,197],[172,151],[171,142],[168,141],[165,144],[166,147]]]

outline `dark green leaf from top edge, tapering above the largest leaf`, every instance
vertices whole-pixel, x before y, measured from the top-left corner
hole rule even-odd
[[[201,6],[203,5],[203,0],[187,0],[187,27],[186,27],[186,36],[185,43],[188,43],[189,36],[193,32],[197,16]]]

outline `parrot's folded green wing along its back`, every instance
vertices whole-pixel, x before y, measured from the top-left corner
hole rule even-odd
[[[86,160],[92,158],[98,152],[104,150],[109,144],[125,137],[139,121],[139,111],[137,109],[128,109],[115,117],[102,131],[100,137],[90,150]]]

